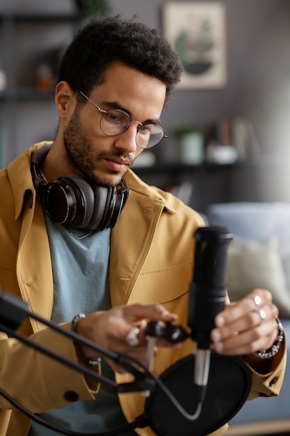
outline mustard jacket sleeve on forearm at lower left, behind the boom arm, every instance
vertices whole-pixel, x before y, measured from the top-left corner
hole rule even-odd
[[[90,389],[81,373],[16,339],[7,338],[3,333],[0,338],[0,386],[31,412],[44,412],[63,407],[72,401],[94,398],[92,394],[97,391],[97,382],[94,384],[95,389]],[[49,328],[40,330],[30,338],[77,362],[70,338]],[[96,371],[99,372],[99,367]],[[0,396],[0,409],[13,408],[8,400]]]

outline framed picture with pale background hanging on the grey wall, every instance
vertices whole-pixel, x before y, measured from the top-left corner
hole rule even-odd
[[[227,81],[225,5],[167,1],[163,35],[184,66],[179,89],[223,88]]]

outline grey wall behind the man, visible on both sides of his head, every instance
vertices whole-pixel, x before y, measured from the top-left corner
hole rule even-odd
[[[254,198],[251,189],[255,183],[259,185],[259,189],[255,188],[259,199],[289,201],[288,189],[284,186],[289,184],[290,26],[287,20],[290,1],[221,1],[227,8],[227,85],[219,90],[176,91],[162,116],[169,138],[156,149],[156,154],[162,160],[175,159],[175,138],[170,135],[170,127],[176,120],[206,125],[223,117],[248,117],[255,127],[261,150],[270,159],[264,159],[266,163],[260,165],[258,178],[246,180],[245,195],[239,198]],[[146,24],[162,27],[162,0],[109,0],[109,3],[112,14],[122,13],[127,17],[137,14]],[[0,11],[37,8],[50,12],[72,10],[74,2],[2,0],[0,4]],[[44,45],[46,43],[47,40]],[[21,126],[16,139],[17,153],[34,141],[53,138],[57,126],[53,104],[38,103],[37,108],[33,102],[20,104],[17,123]],[[241,178],[234,180],[239,189]]]

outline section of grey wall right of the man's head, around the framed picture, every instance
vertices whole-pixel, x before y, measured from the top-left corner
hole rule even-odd
[[[290,201],[290,1],[222,2],[227,10],[227,86],[175,92],[163,112],[163,125],[170,132],[176,119],[207,125],[224,117],[249,118],[265,156],[257,167],[236,171],[225,189],[240,201]],[[114,12],[138,13],[145,23],[159,27],[163,3],[111,0]],[[174,158],[174,137],[159,153],[162,159]]]

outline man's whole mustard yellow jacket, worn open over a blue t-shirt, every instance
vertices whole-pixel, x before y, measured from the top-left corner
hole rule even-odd
[[[0,171],[0,288],[22,297],[31,310],[50,318],[53,279],[49,241],[42,205],[31,179],[30,158],[35,144]],[[179,316],[185,327],[188,315],[188,284],[193,274],[193,233],[203,225],[196,212],[159,189],[149,187],[132,171],[127,172],[131,194],[111,233],[110,289],[113,306],[134,302],[161,303]],[[65,325],[70,328],[70,325]],[[70,340],[26,319],[20,331],[77,361]],[[82,375],[48,359],[31,348],[0,334],[0,387],[32,412],[69,404],[65,395],[74,391],[80,400],[93,398]],[[159,348],[154,372],[159,375],[175,361],[191,353],[192,341],[178,349]],[[286,357],[284,348],[273,371],[252,371],[250,398],[277,395]],[[277,382],[271,380],[278,375]],[[118,381],[128,380],[118,375]],[[97,388],[96,388],[97,389]],[[120,403],[128,421],[142,414],[144,397],[122,394]],[[0,436],[26,435],[30,420],[0,396]],[[225,433],[227,425],[214,432]],[[154,435],[147,427],[142,436]]]

